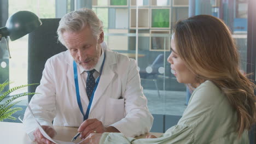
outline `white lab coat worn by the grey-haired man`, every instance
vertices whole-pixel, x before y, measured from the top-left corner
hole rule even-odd
[[[148,111],[135,60],[107,49],[104,53],[106,59],[89,118],[97,118],[105,126],[112,125],[126,136],[149,132],[153,117]],[[89,100],[79,74],[78,69],[80,97],[86,112]],[[36,93],[39,94],[33,95],[30,106],[41,125],[79,127],[82,124],[83,115],[75,93],[73,58],[68,50],[46,61]],[[36,124],[28,110],[24,124],[31,137]]]

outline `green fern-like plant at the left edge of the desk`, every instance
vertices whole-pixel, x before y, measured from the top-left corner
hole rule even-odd
[[[27,86],[37,85],[37,83],[33,83],[33,84],[29,84],[29,85],[22,85],[22,86],[11,88],[6,92],[3,92],[4,88],[6,86],[8,86],[9,84],[10,84],[9,81],[0,83],[0,121],[3,121],[4,119],[16,120],[16,118],[13,117],[12,115],[17,111],[22,110],[22,108],[21,107],[13,107],[14,105],[20,103],[20,101],[21,101],[21,100],[18,100],[18,101],[14,101],[14,100],[16,100],[20,97],[26,96],[26,95],[35,94],[35,93],[25,92],[25,93],[11,95],[8,98],[8,96],[11,92],[14,92],[17,89],[24,88]],[[4,101],[4,103],[2,103],[2,101],[4,99],[5,99],[5,101]]]

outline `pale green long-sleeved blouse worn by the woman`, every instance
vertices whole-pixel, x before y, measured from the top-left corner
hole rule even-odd
[[[156,139],[134,139],[121,133],[103,133],[100,143],[249,143],[248,131],[238,139],[236,111],[211,81],[195,89],[177,125]]]

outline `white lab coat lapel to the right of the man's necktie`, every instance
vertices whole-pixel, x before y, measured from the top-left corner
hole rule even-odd
[[[113,64],[117,63],[115,59],[115,55],[113,52],[109,52],[108,50],[104,51],[106,53],[106,59],[103,66],[100,82],[98,83],[97,89],[94,94],[94,100],[92,101],[91,109],[97,104],[97,101],[100,100],[101,97],[106,92],[106,89],[109,83],[113,80],[115,75],[113,71]]]

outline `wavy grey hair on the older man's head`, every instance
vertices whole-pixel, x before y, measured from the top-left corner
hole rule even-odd
[[[95,39],[100,38],[100,34],[103,32],[103,23],[95,12],[91,9],[82,8],[64,15],[59,23],[57,29],[58,40],[65,45],[62,34],[65,31],[78,32],[85,26],[89,25],[92,31],[92,35]]]

